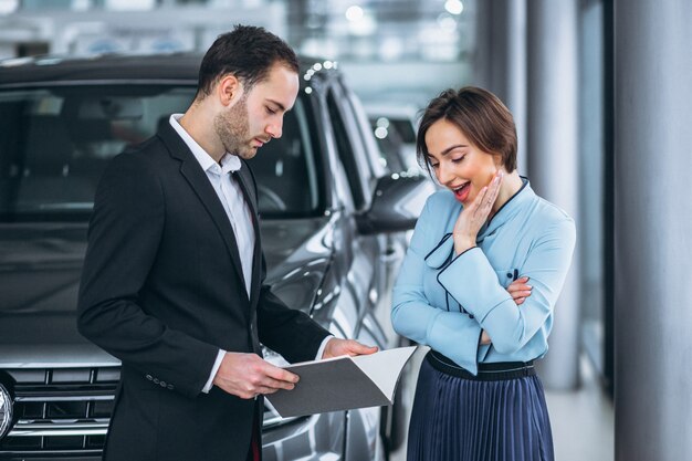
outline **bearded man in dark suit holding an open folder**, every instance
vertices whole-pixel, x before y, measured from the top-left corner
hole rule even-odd
[[[281,136],[297,72],[281,39],[237,27],[205,55],[188,111],[101,180],[78,327],[123,362],[107,461],[256,460],[261,396],[297,381],[261,358],[260,342],[291,362],[375,352],[263,285],[244,160]]]

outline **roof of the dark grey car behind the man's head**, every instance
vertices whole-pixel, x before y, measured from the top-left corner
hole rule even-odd
[[[38,56],[0,60],[0,87],[74,83],[185,83],[197,84],[202,53],[96,54],[84,56]],[[332,74],[322,63],[300,56],[300,75],[317,63],[321,75]],[[329,66],[332,67],[332,66]],[[301,78],[304,83],[305,78]]]

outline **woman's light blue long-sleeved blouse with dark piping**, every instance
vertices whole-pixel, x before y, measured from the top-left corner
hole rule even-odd
[[[574,220],[524,179],[479,231],[476,247],[455,256],[451,232],[461,209],[449,190],[426,202],[394,289],[395,329],[474,375],[479,363],[543,357],[572,262]],[[506,287],[521,276],[533,289],[517,306]],[[480,344],[482,329],[492,344]]]

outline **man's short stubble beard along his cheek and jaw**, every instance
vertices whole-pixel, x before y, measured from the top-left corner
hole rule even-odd
[[[232,107],[218,114],[213,119],[213,126],[226,151],[238,155],[245,160],[254,157],[258,149],[252,148],[250,145],[247,94]]]

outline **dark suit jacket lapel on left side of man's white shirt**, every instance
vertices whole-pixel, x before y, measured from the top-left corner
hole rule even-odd
[[[242,273],[242,264],[240,262],[240,253],[238,252],[238,242],[233,233],[233,227],[229,221],[228,214],[223,209],[223,205],[219,200],[213,186],[209,181],[207,174],[195,158],[187,144],[178,136],[170,124],[165,124],[158,136],[164,140],[170,155],[181,161],[180,174],[187,179],[195,193],[199,197],[203,207],[207,209],[217,229],[221,233],[221,238],[226,243],[226,248],[230,253],[233,268],[242,286],[245,286],[245,280]],[[256,248],[256,243],[255,243]],[[248,293],[247,290],[243,293]]]

